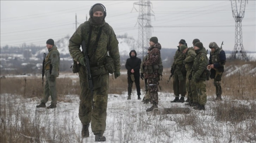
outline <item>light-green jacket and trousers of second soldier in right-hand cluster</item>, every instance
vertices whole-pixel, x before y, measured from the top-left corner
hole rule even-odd
[[[185,63],[185,68],[187,70],[187,81],[186,81],[186,87],[188,91],[188,98],[189,98],[189,103],[198,103],[198,94],[196,91],[196,86],[195,83],[192,80],[189,80],[189,74],[191,72],[194,59],[196,56],[195,50],[193,47],[188,48],[187,52],[185,53],[186,58],[184,60]]]

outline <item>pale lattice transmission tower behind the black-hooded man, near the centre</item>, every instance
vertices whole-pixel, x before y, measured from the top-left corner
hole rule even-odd
[[[154,15],[151,13],[153,12],[151,8],[152,3],[149,0],[140,0],[139,2],[134,2],[133,8],[137,11],[134,5],[139,5],[139,16],[137,18],[137,23],[139,26],[137,54],[142,54],[142,57],[144,57],[144,53],[147,52],[147,49],[149,47],[148,42],[152,36],[153,27],[151,25],[151,16]]]

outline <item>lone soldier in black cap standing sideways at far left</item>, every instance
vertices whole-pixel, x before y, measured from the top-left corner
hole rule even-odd
[[[59,76],[59,66],[60,66],[60,53],[57,50],[57,46],[54,45],[53,39],[48,39],[46,41],[46,47],[49,51],[45,57],[45,86],[44,86],[44,97],[41,100],[41,104],[37,105],[36,108],[45,108],[45,103],[48,101],[49,96],[51,96],[51,105],[47,107],[56,108],[57,104],[57,89],[56,89],[56,77]]]

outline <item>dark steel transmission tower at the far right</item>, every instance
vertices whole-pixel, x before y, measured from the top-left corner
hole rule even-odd
[[[239,6],[240,2],[240,6]],[[248,2],[248,1],[247,1]],[[244,18],[246,0],[231,0],[233,18],[236,21],[235,46],[231,59],[248,60],[243,46],[242,20]],[[240,9],[238,9],[240,7]]]

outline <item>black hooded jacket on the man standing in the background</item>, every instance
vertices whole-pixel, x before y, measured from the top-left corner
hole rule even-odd
[[[134,52],[135,56],[131,56],[131,53]],[[137,53],[135,50],[131,50],[129,53],[130,58],[126,60],[125,67],[127,69],[127,74],[128,76],[131,75],[131,70],[134,70],[134,76],[140,76],[140,64],[141,64],[141,59],[137,57]]]

